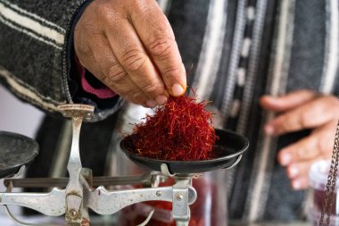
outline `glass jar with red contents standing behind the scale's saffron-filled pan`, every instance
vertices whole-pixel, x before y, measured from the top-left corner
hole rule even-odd
[[[142,121],[146,114],[153,113],[151,109],[140,105],[128,104],[120,113],[120,118],[113,135],[114,151],[112,155],[111,175],[136,175],[149,172],[132,163],[120,150],[122,135],[130,134],[135,123]],[[217,123],[218,125],[219,123]],[[162,182],[160,186],[171,186],[173,179]],[[190,205],[191,220],[189,226],[225,226],[227,225],[227,172],[219,170],[206,172],[202,177],[193,180],[197,192],[197,200]],[[120,188],[140,188],[124,186]],[[115,188],[116,189],[116,188]],[[153,217],[148,226],[176,225],[172,217],[170,202],[150,201],[129,205],[119,213],[119,226],[136,226],[145,222],[148,214],[154,209]]]

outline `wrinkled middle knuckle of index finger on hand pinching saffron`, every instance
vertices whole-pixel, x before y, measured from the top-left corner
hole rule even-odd
[[[157,38],[148,45],[148,49],[153,56],[166,57],[174,45],[175,40],[172,38]]]

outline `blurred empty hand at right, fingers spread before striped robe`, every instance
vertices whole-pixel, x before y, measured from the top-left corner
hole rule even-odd
[[[310,165],[332,155],[339,100],[335,96],[319,96],[310,90],[301,90],[280,97],[263,96],[260,104],[280,113],[266,124],[265,131],[269,135],[311,129],[310,136],[285,146],[277,156],[278,162],[286,167],[292,187],[307,188]]]

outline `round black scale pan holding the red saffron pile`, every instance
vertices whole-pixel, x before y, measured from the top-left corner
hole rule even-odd
[[[120,142],[121,150],[128,155],[133,162],[140,164],[153,171],[161,171],[161,163],[166,163],[170,173],[198,173],[210,172],[221,168],[231,167],[244,154],[249,146],[247,138],[229,130],[216,130],[219,140],[213,147],[217,158],[203,161],[166,161],[143,157],[134,154],[132,139],[134,135],[123,138]]]

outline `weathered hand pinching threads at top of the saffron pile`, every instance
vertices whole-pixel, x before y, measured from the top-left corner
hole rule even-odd
[[[154,107],[186,89],[170,23],[154,0],[96,0],[74,30],[79,62],[128,101]]]

